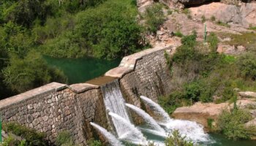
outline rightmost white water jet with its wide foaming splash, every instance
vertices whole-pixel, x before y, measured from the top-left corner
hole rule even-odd
[[[208,142],[208,134],[203,131],[203,126],[189,120],[175,120],[171,119],[167,112],[155,103],[151,99],[145,96],[140,96],[145,104],[149,105],[154,113],[162,115],[163,121],[159,121],[161,125],[167,128],[167,131],[178,130],[182,136],[186,136],[187,139],[191,139],[193,142]]]

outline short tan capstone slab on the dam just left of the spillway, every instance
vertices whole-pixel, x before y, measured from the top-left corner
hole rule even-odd
[[[78,84],[70,85],[69,87],[75,93],[82,93],[84,91],[89,91],[91,89],[99,88],[98,85],[92,85],[92,84],[89,84],[89,83],[78,83]]]

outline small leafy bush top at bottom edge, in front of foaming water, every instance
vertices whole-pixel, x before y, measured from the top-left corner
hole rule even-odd
[[[165,139],[166,146],[193,146],[192,141],[187,141],[186,137],[182,137],[178,130],[172,132],[172,134]]]

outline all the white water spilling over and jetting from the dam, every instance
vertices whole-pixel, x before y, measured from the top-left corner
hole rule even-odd
[[[171,119],[159,104],[145,96],[140,96],[140,98],[151,108],[154,115],[157,115],[157,119],[152,118],[139,107],[135,107],[132,104],[125,104],[118,80],[114,80],[101,88],[105,108],[108,110],[108,115],[111,117],[110,119],[113,122],[119,140],[136,145],[147,145],[148,141],[143,136],[143,134],[146,134],[146,137],[148,137],[149,140],[153,140],[155,144],[164,145],[163,142],[165,137],[167,137],[167,134],[170,134],[173,130],[178,130],[182,136],[186,136],[187,139],[191,139],[193,142],[208,142],[209,140],[208,134],[205,134],[203,131],[203,126],[188,120]],[[126,107],[129,107],[130,110],[140,115],[146,122],[146,127],[135,127],[129,119]],[[100,131],[106,139],[108,139],[110,145],[122,145],[121,142],[105,128],[102,128],[95,123],[91,123],[91,126],[94,126],[94,128]],[[140,130],[142,130],[143,133]],[[155,137],[159,138],[155,139]]]

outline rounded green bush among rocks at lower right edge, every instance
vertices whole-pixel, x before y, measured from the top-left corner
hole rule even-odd
[[[244,123],[252,119],[252,115],[246,110],[234,108],[223,110],[217,122],[219,130],[229,139],[250,139],[255,136],[256,127],[244,126]]]

